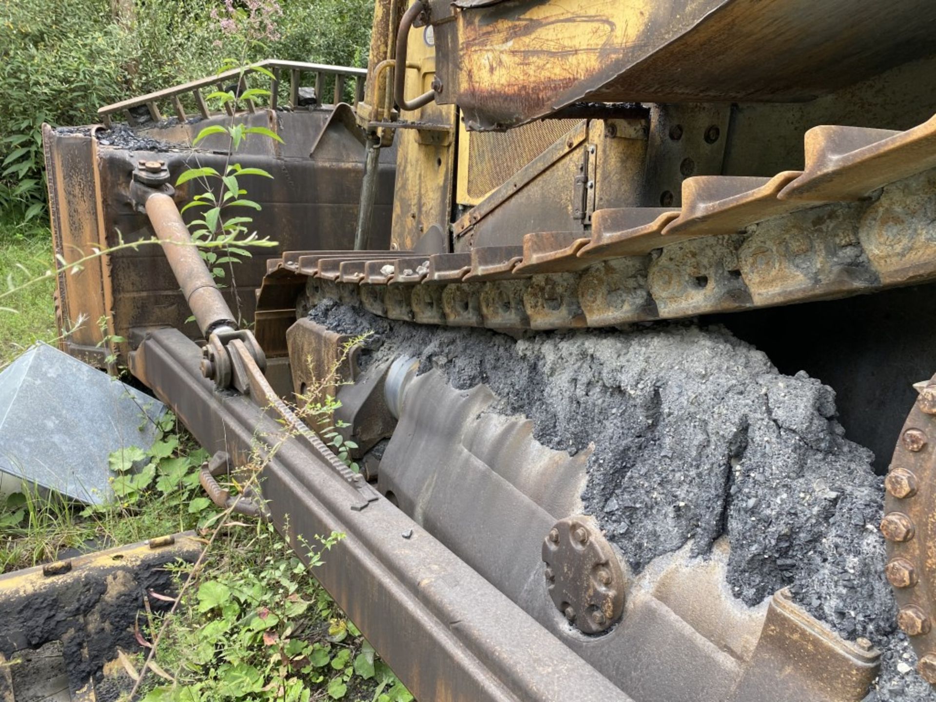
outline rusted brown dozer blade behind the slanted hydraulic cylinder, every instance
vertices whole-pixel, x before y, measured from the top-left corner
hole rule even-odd
[[[280,145],[271,139],[248,139],[243,153],[239,154],[245,168],[265,168],[274,176],[273,180],[256,178],[242,184],[249,190],[249,197],[263,208],[255,213],[254,227],[261,236],[269,235],[278,241],[279,251],[353,247],[364,152],[353,133],[343,124],[329,123],[328,117],[327,110],[307,113],[257,110],[256,114],[239,117],[247,124],[275,128],[286,142]],[[141,131],[145,137],[188,143],[205,125],[204,122],[177,124],[166,129],[154,127]],[[174,181],[191,160],[186,152],[155,154],[102,146],[94,136],[61,134],[51,129],[46,131],[45,137],[52,165],[53,227],[58,232],[56,241],[66,260],[74,260],[78,252],[89,254],[93,247],[105,248],[119,241],[152,238],[154,231],[146,215],[135,211],[131,204],[127,176],[140,158],[149,158],[166,161]],[[205,150],[197,152],[198,164],[222,168],[225,155],[212,150],[226,150],[227,144],[212,146],[208,143],[212,139],[218,138],[205,139]],[[310,159],[312,142],[316,150]],[[381,165],[374,218],[378,227],[373,238],[374,245],[380,247],[386,247],[389,241],[394,158],[393,150],[387,150]],[[177,201],[181,204],[196,193],[197,183],[186,183],[177,194]],[[256,250],[254,257],[226,271],[224,297],[238,318],[253,319],[255,290],[267,272],[266,256],[274,252],[276,249]],[[297,287],[301,289],[304,285],[303,280]],[[63,344],[66,350],[74,349],[82,358],[90,354],[88,359],[97,365],[103,365],[109,353],[103,348],[95,353],[95,344],[102,338],[96,323],[102,317],[109,320],[108,334],[124,338],[130,337],[131,329],[160,326],[185,329],[192,338],[200,335],[197,326],[186,321],[189,313],[179,285],[166,256],[156,246],[143,245],[136,251],[124,249],[94,259],[84,271],[61,280],[59,288],[60,328],[68,332]],[[269,288],[267,294],[269,296]],[[288,307],[294,309],[296,296],[290,293],[286,297],[290,298]],[[86,321],[79,329],[72,330],[81,316]],[[264,343],[275,346],[276,339],[284,338],[284,330],[277,328]],[[125,354],[127,348],[126,344],[121,344],[118,350]]]

